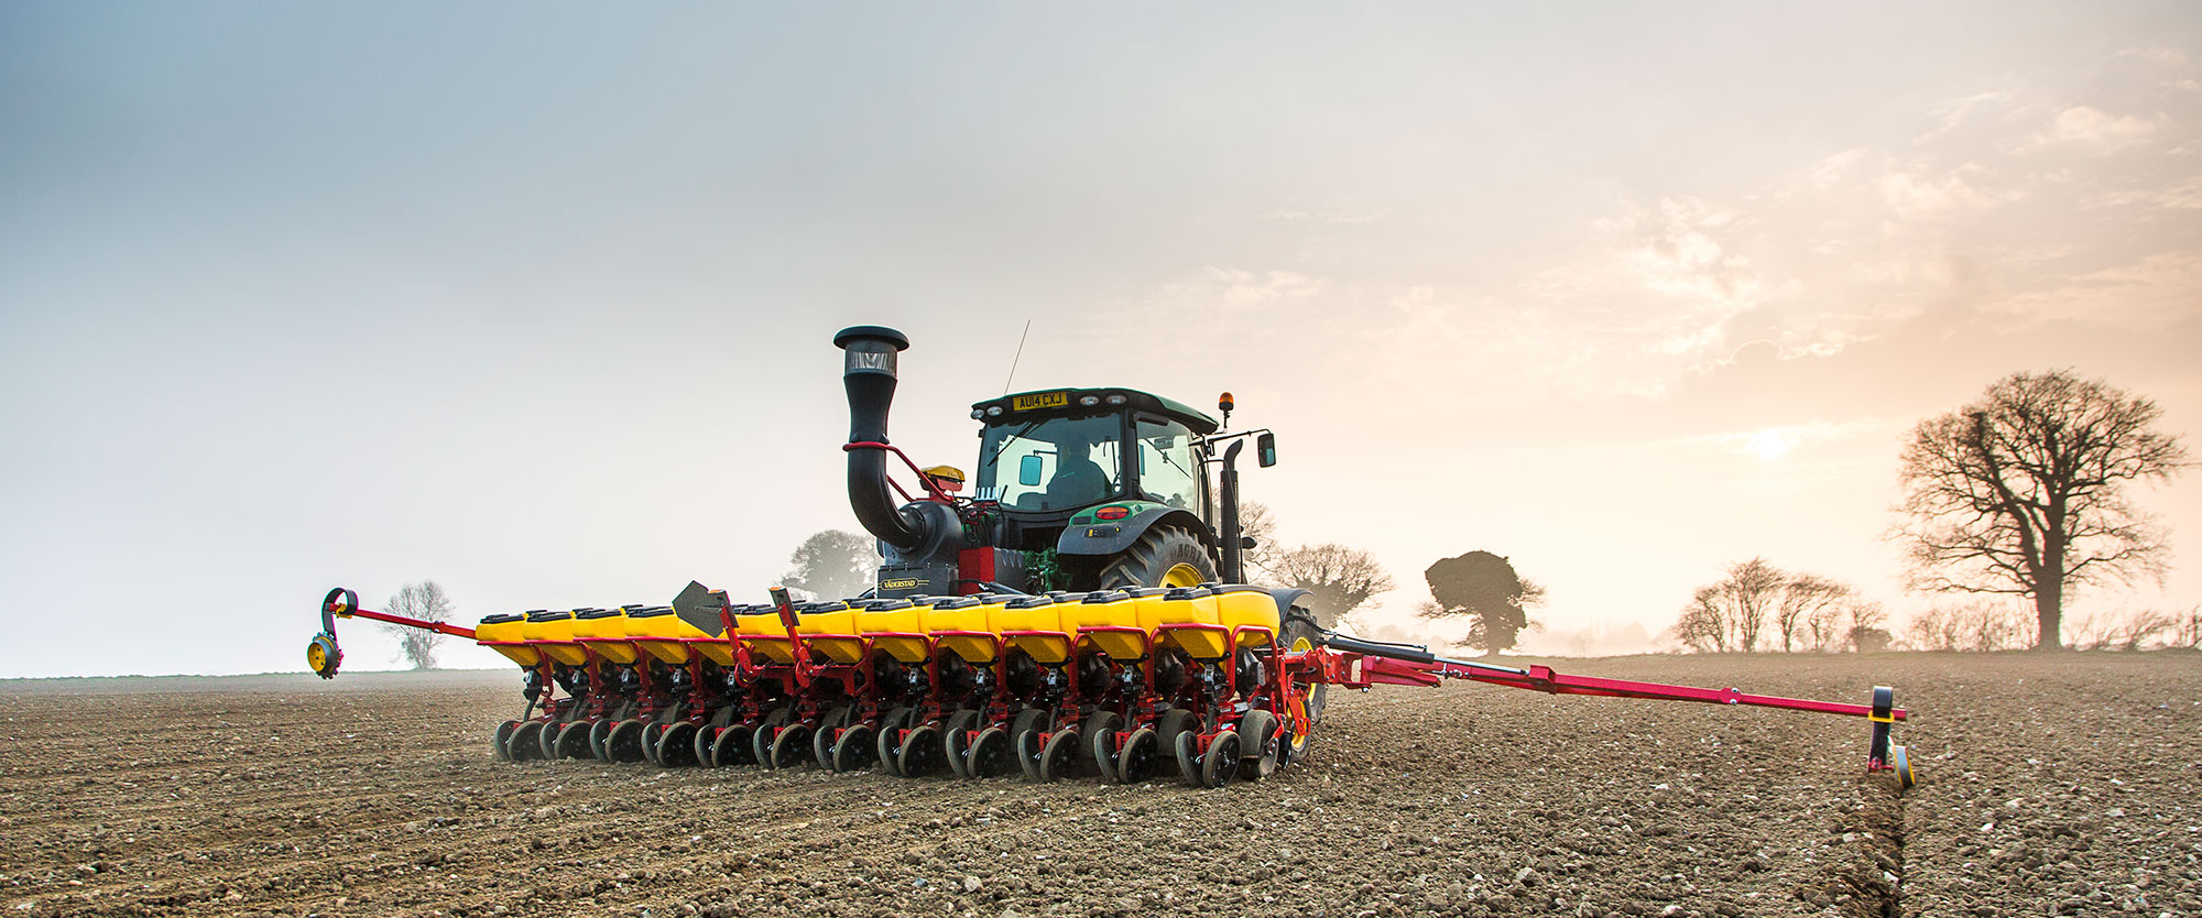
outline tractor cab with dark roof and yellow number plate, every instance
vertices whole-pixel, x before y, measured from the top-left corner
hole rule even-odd
[[[971,500],[1004,548],[1055,548],[1072,524],[1178,511],[1213,533],[1204,436],[1216,420],[1136,390],[1022,392],[971,405],[982,420]]]

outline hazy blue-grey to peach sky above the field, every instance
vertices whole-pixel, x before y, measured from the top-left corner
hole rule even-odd
[[[762,601],[857,528],[850,324],[923,462],[1231,390],[1370,632],[1469,550],[1552,634],[1748,557],[1903,616],[1911,425],[2068,368],[2202,434],[2202,11],[0,4],[0,678]],[[2173,568],[2074,616],[2202,603],[2202,476],[2140,500]]]

